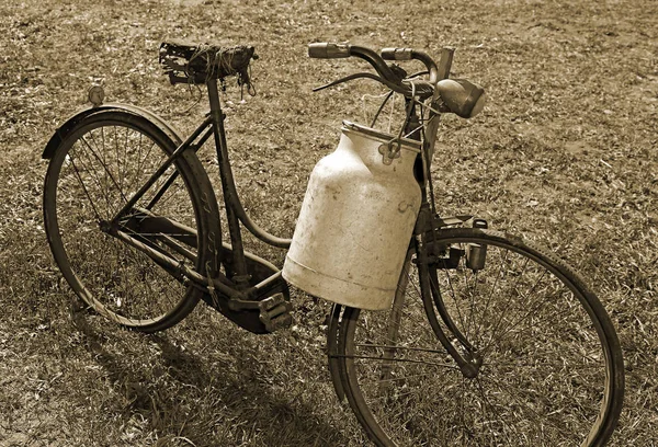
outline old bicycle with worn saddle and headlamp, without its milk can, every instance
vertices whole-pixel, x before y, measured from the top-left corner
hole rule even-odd
[[[484,103],[480,88],[449,78],[453,50],[435,62],[409,48],[321,43],[309,45],[309,56],[358,57],[376,72],[322,88],[366,78],[405,98],[397,137],[374,130],[374,122],[345,124],[343,133],[384,141],[375,154],[383,165],[395,164],[402,146],[416,148],[410,173],[420,192],[402,259],[390,260],[401,267],[385,310],[332,307],[327,354],[339,399],[379,446],[606,444],[622,409],[624,366],[599,299],[548,251],[484,219],[435,210],[429,169],[439,118],[473,116]],[[93,105],[48,141],[46,233],[89,308],[143,332],[177,324],[201,300],[254,333],[291,324],[288,284],[245,250],[240,225],[273,247],[288,249],[291,240],[262,230],[241,206],[218,91],[231,77],[251,91],[253,58],[252,47],[162,44],[171,82],[208,91],[211,112],[186,139],[147,110],[102,104],[93,88]],[[409,76],[386,60],[416,60],[424,70]],[[211,137],[230,243],[197,157]]]

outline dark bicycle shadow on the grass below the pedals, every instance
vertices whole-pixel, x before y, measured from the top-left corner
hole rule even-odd
[[[95,362],[111,378],[114,388],[125,396],[128,405],[122,415],[124,423],[135,414],[139,414],[150,428],[164,438],[188,438],[196,447],[215,446],[217,439],[214,431],[224,436],[230,427],[225,424],[239,424],[249,427],[242,439],[235,439],[236,445],[251,445],[249,437],[257,437],[259,445],[304,445],[344,446],[349,440],[329,422],[316,414],[315,409],[299,399],[291,399],[285,392],[277,393],[266,382],[253,380],[253,374],[224,374],[223,368],[211,370],[213,365],[190,351],[183,351],[172,343],[168,334],[137,335],[141,343],[157,346],[159,362],[143,368],[135,368],[122,362],[122,355],[106,348],[109,343],[104,332],[94,329],[86,318],[77,318],[75,326],[86,336],[88,349],[93,353]],[[138,340],[139,340],[138,339]],[[148,347],[148,346],[147,346]],[[250,353],[245,346],[234,346],[223,358],[234,369],[240,366],[240,356],[248,358]],[[230,366],[230,365],[228,365]],[[259,368],[263,374],[264,366]],[[268,375],[269,369],[264,370]],[[299,375],[303,371],[295,371]],[[166,377],[166,380],[161,378]],[[181,396],[181,390],[189,392]],[[328,399],[334,399],[328,396]],[[203,401],[205,409],[208,402],[215,402],[213,411],[200,412],[190,409],[190,402]],[[181,408],[185,402],[186,408]],[[290,438],[285,439],[285,434]],[[167,436],[175,434],[175,436]],[[162,439],[164,440],[164,439]],[[158,447],[186,445],[164,442]]]

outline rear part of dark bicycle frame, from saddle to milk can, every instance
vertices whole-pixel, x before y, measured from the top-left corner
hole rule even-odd
[[[257,307],[259,299],[272,295],[275,291],[283,290],[286,285],[281,277],[281,273],[275,273],[256,286],[249,286],[249,265],[263,264],[271,267],[273,271],[276,268],[265,260],[245,251],[240,232],[240,221],[253,236],[270,245],[287,248],[290,247],[291,241],[274,237],[259,228],[249,219],[242,208],[228,160],[228,149],[224,129],[225,115],[220,107],[217,82],[215,80],[209,80],[206,82],[206,87],[211,103],[209,114],[190,137],[188,137],[188,139],[175,149],[158,170],[151,174],[139,191],[126,202],[116,216],[110,222],[104,222],[102,227],[105,232],[147,254],[160,267],[164,268],[183,284],[198,287],[209,295],[217,294],[222,298],[228,299],[229,303],[232,303],[231,308],[235,308],[235,310],[240,308],[253,309]],[[158,250],[156,244],[150,243],[148,238],[135,237],[129,232],[122,231],[122,227],[127,225],[137,213],[139,215],[141,228],[148,229],[148,232],[150,233],[163,234],[160,237],[161,242],[164,242],[179,254],[191,260],[194,259],[194,254],[182,245],[179,245],[177,240],[184,242],[190,247],[196,247],[196,231],[166,217],[154,216],[149,213],[178,176],[177,171],[169,175],[146,208],[136,209],[135,205],[185,150],[198,150],[211,136],[214,136],[217,151],[219,174],[224,191],[223,196],[226,205],[228,230],[230,234],[230,244],[223,244],[219,250],[219,259],[223,264],[230,265],[230,278],[222,274],[218,270],[216,272],[204,272],[206,274],[204,275],[203,273],[180,265],[175,260]],[[126,218],[126,216],[129,217]]]

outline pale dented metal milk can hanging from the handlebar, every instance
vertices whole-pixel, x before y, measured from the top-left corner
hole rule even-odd
[[[343,122],[336,151],[314,168],[283,277],[341,305],[386,309],[395,297],[420,209],[420,142]],[[398,148],[394,144],[394,148]]]

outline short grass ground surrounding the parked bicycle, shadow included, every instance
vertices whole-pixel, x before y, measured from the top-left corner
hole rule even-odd
[[[0,445],[363,444],[325,369],[325,303],[296,295],[296,325],[269,337],[201,307],[157,336],[70,321],[43,230],[41,151],[95,79],[110,101],[190,130],[204,105],[161,76],[166,37],[257,47],[259,95],[240,104],[228,91],[229,145],[249,211],[282,236],[340,121],[362,121],[372,92],[311,94],[361,65],[309,60],[305,45],[456,47],[453,76],[484,84],[489,105],[444,121],[440,207],[536,239],[590,279],[627,365],[612,444],[655,445],[657,14],[650,0],[1,2]]]

